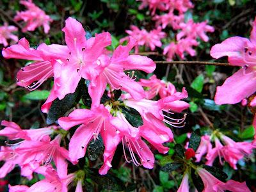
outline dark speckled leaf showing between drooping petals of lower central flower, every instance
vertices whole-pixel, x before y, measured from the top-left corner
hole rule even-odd
[[[104,145],[103,145],[102,137],[100,135],[97,140],[90,141],[90,144],[86,149],[87,156],[91,161],[96,161],[98,157],[101,154],[103,154],[103,151],[104,151]]]

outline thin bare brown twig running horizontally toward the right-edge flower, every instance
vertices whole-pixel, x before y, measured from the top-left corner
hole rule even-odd
[[[181,64],[181,65],[217,65],[225,67],[237,67],[229,63],[209,62],[209,61],[154,61],[157,64]]]

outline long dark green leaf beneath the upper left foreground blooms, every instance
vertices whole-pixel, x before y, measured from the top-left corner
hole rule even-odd
[[[77,102],[79,102],[81,95],[84,95],[84,92],[87,90],[86,85],[84,84],[84,80],[81,80],[76,88],[74,93],[67,94],[63,99],[55,99],[52,102],[51,108],[47,114],[46,123],[52,124],[58,120],[61,116],[65,115],[65,113],[76,106]]]

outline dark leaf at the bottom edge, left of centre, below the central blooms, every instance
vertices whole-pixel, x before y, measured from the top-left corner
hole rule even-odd
[[[93,170],[92,172],[93,173],[88,174],[88,177],[96,182],[100,188],[112,191],[123,191],[125,189],[122,180],[118,179],[114,175],[99,175],[97,170]]]

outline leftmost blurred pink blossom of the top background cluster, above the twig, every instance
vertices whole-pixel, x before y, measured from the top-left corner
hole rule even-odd
[[[136,26],[131,26],[131,30],[126,30],[126,33],[132,36],[132,38],[134,38],[138,43],[138,45],[135,46],[135,52],[139,52],[138,47],[143,45],[145,45],[145,47],[149,47],[151,51],[154,51],[156,47],[161,47],[161,38],[166,36],[166,34],[161,31],[160,27],[148,32],[145,29],[139,29]],[[129,36],[122,38],[120,42],[124,42],[125,40],[129,40]]]

